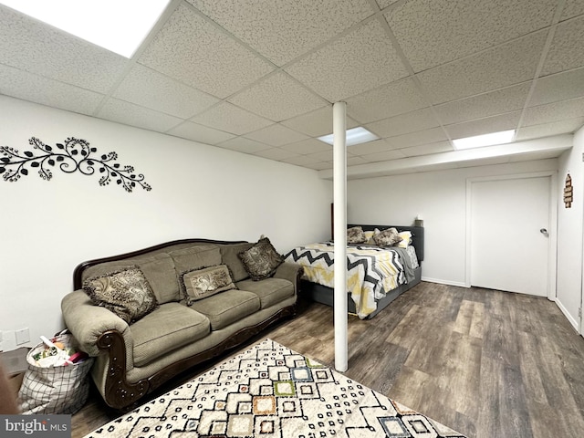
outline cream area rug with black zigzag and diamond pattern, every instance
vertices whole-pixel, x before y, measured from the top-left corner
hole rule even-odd
[[[89,437],[464,435],[266,339]]]

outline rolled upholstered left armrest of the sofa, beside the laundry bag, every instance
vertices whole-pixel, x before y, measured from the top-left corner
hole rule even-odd
[[[89,354],[98,356],[99,337],[107,331],[120,332],[131,351],[133,341],[126,321],[110,312],[107,308],[95,306],[82,290],[76,290],[63,297],[61,311],[65,325],[78,341],[79,348]]]

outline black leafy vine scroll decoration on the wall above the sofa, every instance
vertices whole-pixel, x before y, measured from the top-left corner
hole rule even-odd
[[[43,143],[32,137],[28,143],[33,149],[40,151],[35,154],[33,151],[20,153],[9,146],[0,146],[0,173],[4,181],[14,183],[21,176],[28,175],[28,169],[38,169],[38,174],[43,180],[50,181],[53,177],[51,168],[57,166],[63,172],[81,172],[84,175],[92,175],[96,168],[101,174],[99,185],[108,185],[115,181],[122,186],[126,192],[131,192],[136,185],[140,185],[146,191],[151,190],[151,186],[144,182],[144,175],[136,174],[133,166],[121,166],[115,162],[118,159],[116,152],[109,152],[99,158],[93,158],[92,153],[98,153],[96,148],[89,147],[89,141],[69,137],[63,143],[57,143],[57,148]]]

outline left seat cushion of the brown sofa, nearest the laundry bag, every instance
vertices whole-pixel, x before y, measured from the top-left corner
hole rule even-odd
[[[134,365],[142,367],[162,355],[202,339],[211,331],[209,319],[193,308],[167,303],[130,326]]]

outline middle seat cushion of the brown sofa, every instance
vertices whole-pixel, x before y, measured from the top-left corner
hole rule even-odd
[[[212,330],[219,330],[259,310],[260,300],[251,292],[231,289],[195,301],[191,308],[209,318]]]

